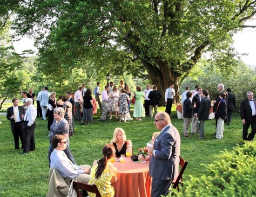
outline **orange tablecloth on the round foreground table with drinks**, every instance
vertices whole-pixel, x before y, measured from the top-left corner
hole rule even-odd
[[[150,197],[149,161],[147,163],[135,163],[130,158],[125,158],[125,160],[124,164],[121,162],[114,163],[118,172],[117,182],[113,184],[115,197]]]

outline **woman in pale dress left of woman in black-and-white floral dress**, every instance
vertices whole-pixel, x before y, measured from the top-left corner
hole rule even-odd
[[[119,91],[116,86],[113,87],[113,91],[110,92],[108,99],[108,110],[109,110],[109,119],[112,119],[112,113],[115,113],[115,119],[117,119],[117,113],[119,111],[118,107]]]

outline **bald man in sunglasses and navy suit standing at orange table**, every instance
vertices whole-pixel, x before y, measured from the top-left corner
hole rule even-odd
[[[148,147],[148,153],[152,155],[149,176],[152,177],[151,197],[160,197],[168,195],[173,179],[178,175],[181,138],[166,112],[157,113],[154,124],[161,133],[153,147]]]

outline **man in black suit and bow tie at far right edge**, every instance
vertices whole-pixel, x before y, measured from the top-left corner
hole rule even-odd
[[[256,133],[256,99],[251,91],[246,93],[247,99],[243,100],[240,108],[240,116],[243,123],[243,140],[253,140]],[[251,133],[248,129],[251,126]]]

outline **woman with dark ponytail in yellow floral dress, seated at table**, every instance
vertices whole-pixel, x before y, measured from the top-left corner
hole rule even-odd
[[[88,184],[95,184],[101,197],[114,197],[115,189],[112,184],[117,180],[117,169],[110,159],[115,157],[115,147],[107,144],[103,147],[102,153],[103,158],[94,161]],[[90,197],[95,197],[94,193],[88,192],[88,194]]]

